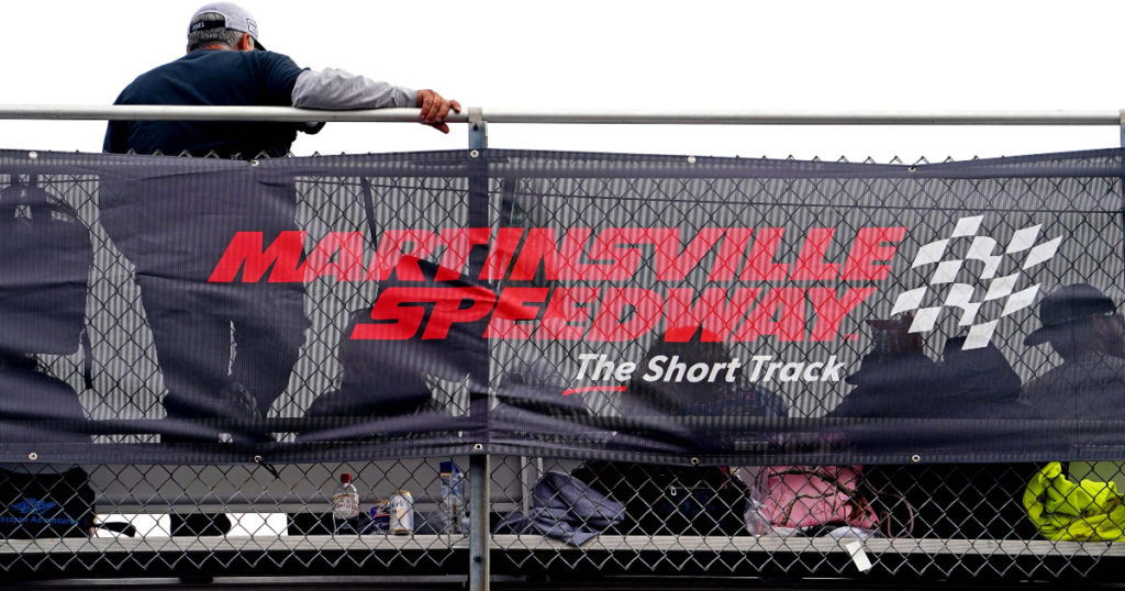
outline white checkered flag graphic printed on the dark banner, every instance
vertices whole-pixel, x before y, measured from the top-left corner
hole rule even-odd
[[[969,326],[969,334],[962,349],[980,349],[987,347],[992,340],[996,326],[1005,316],[1009,316],[1035,303],[1035,297],[1040,292],[1040,284],[1016,290],[1020,277],[1025,272],[1051,260],[1059,251],[1062,236],[1037,243],[1042,224],[1017,230],[1012,233],[1008,245],[998,252],[999,243],[987,235],[980,234],[981,222],[984,216],[962,217],[957,220],[950,238],[937,240],[918,249],[915,256],[912,269],[935,266],[929,283],[916,289],[910,289],[899,294],[891,310],[891,315],[901,312],[915,312],[914,323],[910,332],[929,332],[934,330],[938,317],[946,308],[961,311],[958,326]],[[954,241],[972,242],[963,258],[955,258],[951,252],[951,244]],[[1023,263],[1019,270],[1010,275],[997,277],[1001,263],[1006,258],[1023,256]],[[950,257],[950,258],[947,258]],[[965,268],[966,261],[980,261],[981,272],[976,277],[976,284],[956,283],[957,275]],[[987,286],[984,298],[974,301],[976,285]],[[945,299],[940,305],[922,307],[930,293],[939,294],[945,290]],[[1002,301],[1004,306],[999,317],[979,319],[981,305],[987,302]]]

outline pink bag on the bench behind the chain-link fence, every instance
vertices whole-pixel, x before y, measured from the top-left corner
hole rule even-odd
[[[772,466],[764,468],[758,508],[774,527],[853,526],[879,529],[879,517],[860,494],[862,466]]]

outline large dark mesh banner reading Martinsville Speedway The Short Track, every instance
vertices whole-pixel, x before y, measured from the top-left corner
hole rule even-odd
[[[0,152],[0,460],[1119,459],[1123,174]]]

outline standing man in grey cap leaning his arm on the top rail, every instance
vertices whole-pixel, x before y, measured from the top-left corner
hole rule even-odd
[[[456,100],[341,70],[303,70],[258,41],[258,24],[230,2],[196,11],[187,54],[136,78],[117,105],[294,106],[317,109],[420,107],[420,122],[448,133]],[[297,132],[323,124],[281,122],[110,122],[105,151],[216,155],[250,160],[284,156]],[[216,441],[201,418],[264,417],[289,383],[309,322],[304,290],[294,285],[208,285],[192,252],[210,252],[237,231],[270,236],[295,229],[296,191],[227,187],[166,174],[102,179],[102,225],[136,266],[137,284],[163,371],[170,419],[164,442]],[[222,186],[220,186],[222,185]],[[219,249],[220,250],[220,249]],[[237,355],[233,355],[237,349]],[[177,420],[179,421],[179,424]],[[268,442],[264,432],[232,433]]]

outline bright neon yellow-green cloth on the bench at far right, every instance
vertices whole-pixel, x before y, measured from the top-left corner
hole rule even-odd
[[[1113,482],[1066,480],[1052,462],[1024,491],[1027,517],[1055,541],[1125,541],[1125,496]]]

